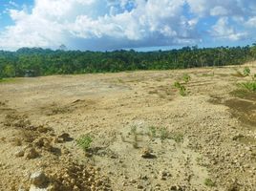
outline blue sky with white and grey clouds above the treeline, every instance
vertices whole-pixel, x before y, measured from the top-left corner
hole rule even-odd
[[[0,49],[244,46],[256,0],[0,0]]]

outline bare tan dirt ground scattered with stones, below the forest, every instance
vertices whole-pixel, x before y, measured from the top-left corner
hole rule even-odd
[[[48,178],[37,190],[256,190],[256,96],[237,91],[251,78],[243,69],[0,83],[0,190],[36,190],[37,171]],[[85,154],[75,139],[87,134]]]

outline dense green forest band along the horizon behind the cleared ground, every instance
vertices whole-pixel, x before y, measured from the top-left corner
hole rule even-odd
[[[256,59],[256,45],[245,47],[184,47],[158,52],[81,52],[22,48],[0,51],[0,77],[86,74],[135,70],[185,69],[238,65]]]

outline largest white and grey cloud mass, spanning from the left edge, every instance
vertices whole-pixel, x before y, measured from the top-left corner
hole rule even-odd
[[[69,46],[71,38],[151,39],[149,46],[159,36],[166,44],[179,38],[188,41],[195,37],[190,31],[196,22],[181,15],[184,4],[184,0],[36,0],[31,13],[10,10],[15,25],[1,34],[0,47]],[[132,6],[130,11],[127,6]]]

